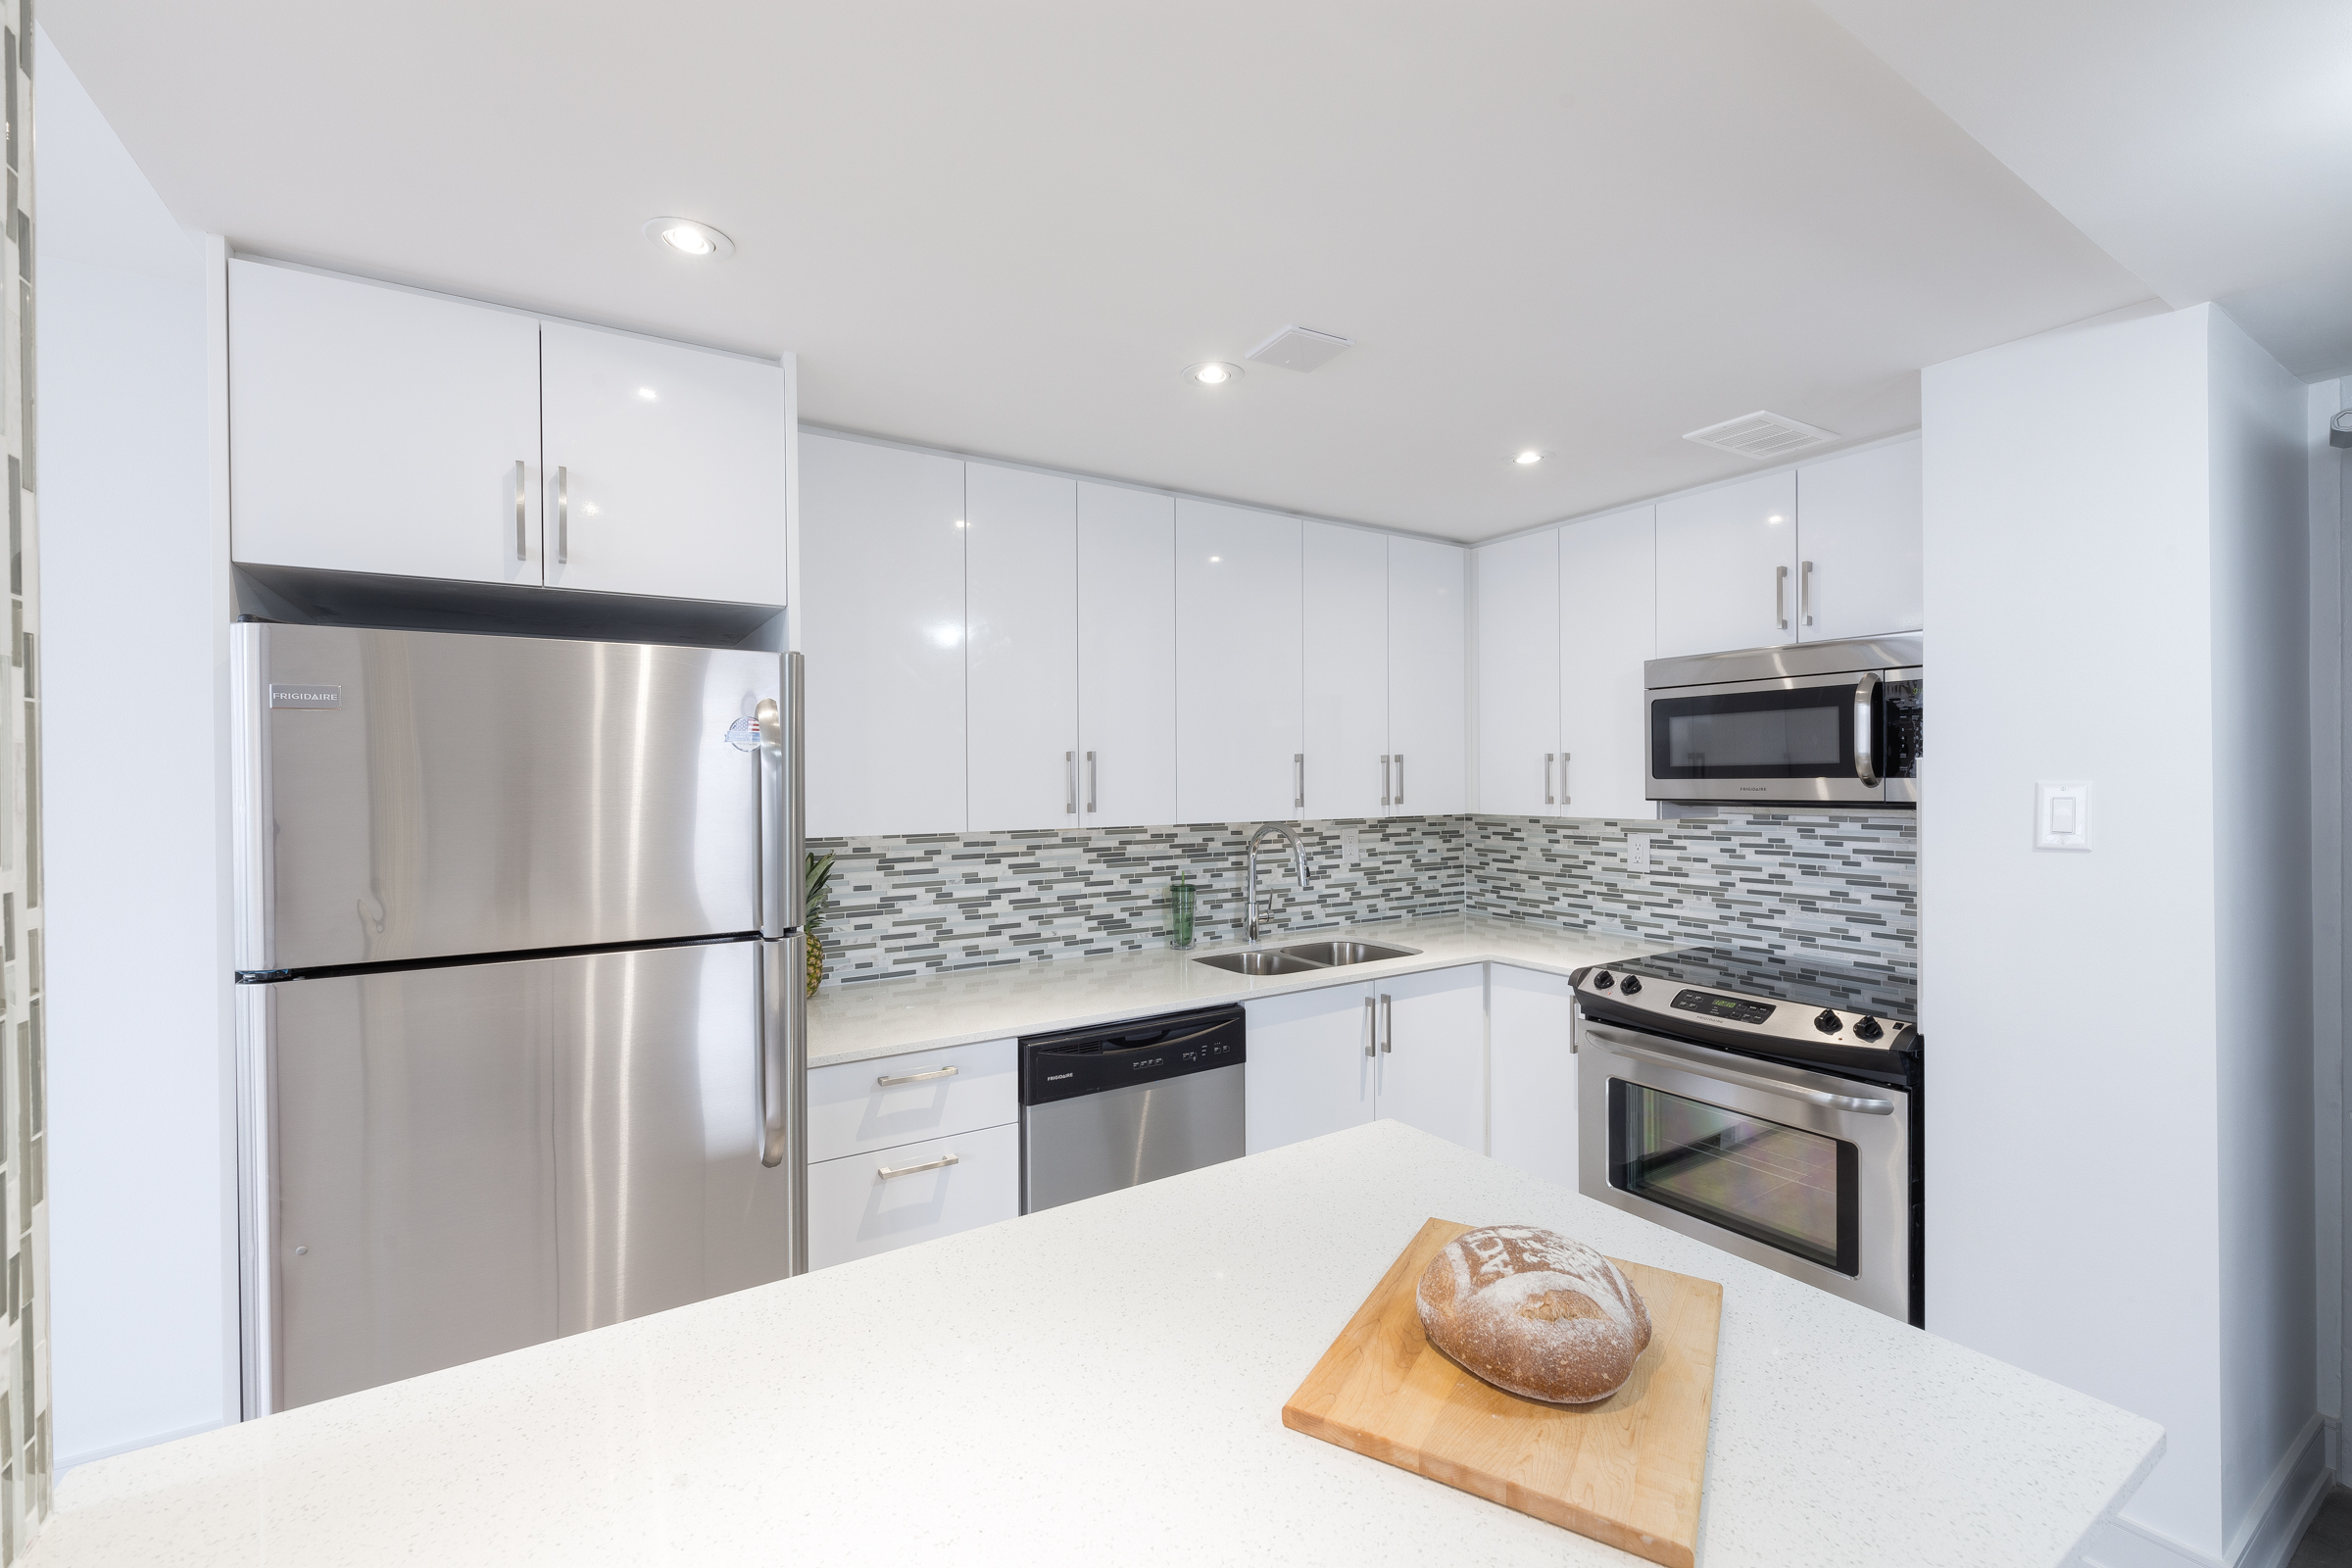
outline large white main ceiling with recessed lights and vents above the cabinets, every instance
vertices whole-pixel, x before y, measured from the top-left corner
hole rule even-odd
[[[1679,437],[1750,409],[1910,428],[1917,367],[2150,294],[1795,0],[42,21],[240,247],[790,348],[816,423],[1454,538],[1745,473]],[[1284,322],[1357,346],[1181,378]]]

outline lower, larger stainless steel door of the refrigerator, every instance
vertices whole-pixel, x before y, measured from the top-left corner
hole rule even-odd
[[[760,1164],[762,947],[266,987],[263,1408],[783,1279],[800,1161]]]

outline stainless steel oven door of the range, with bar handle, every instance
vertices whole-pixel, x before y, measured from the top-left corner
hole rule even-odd
[[[1578,1025],[1576,1187],[1910,1321],[1910,1095]]]

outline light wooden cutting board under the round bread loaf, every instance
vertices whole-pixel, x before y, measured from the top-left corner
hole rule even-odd
[[[1691,1568],[1724,1288],[1611,1260],[1649,1305],[1649,1349],[1609,1399],[1548,1406],[1465,1373],[1421,1333],[1421,1272],[1465,1229],[1475,1227],[1421,1227],[1282,1406],[1282,1425]]]

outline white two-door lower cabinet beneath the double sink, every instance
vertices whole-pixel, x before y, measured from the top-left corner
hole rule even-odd
[[[1484,966],[1244,1001],[1249,1154],[1378,1117],[1486,1147]]]

